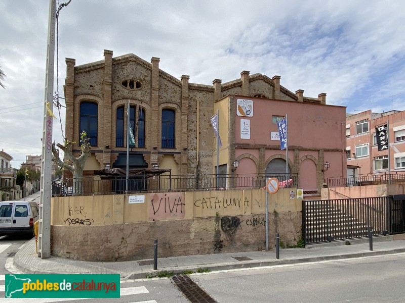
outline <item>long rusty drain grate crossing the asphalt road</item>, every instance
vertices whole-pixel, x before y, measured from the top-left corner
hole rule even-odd
[[[199,287],[187,275],[174,275],[172,280],[180,291],[184,293],[187,299],[192,303],[214,303],[214,300],[203,288]]]

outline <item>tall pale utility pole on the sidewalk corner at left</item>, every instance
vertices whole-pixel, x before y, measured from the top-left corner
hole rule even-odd
[[[39,204],[38,257],[51,257],[52,197],[52,109],[55,65],[56,0],[49,1],[47,64],[45,77],[44,126],[42,133],[41,203]]]

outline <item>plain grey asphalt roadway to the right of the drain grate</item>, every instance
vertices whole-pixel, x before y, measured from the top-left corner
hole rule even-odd
[[[405,254],[234,270],[192,279],[218,302],[404,302]]]

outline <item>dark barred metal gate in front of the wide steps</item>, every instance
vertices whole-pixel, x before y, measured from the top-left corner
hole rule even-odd
[[[405,195],[303,200],[305,244],[405,232]]]

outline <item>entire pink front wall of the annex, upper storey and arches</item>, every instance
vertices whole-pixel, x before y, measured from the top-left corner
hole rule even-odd
[[[234,96],[235,105],[238,98],[247,99]],[[280,150],[279,140],[271,140],[271,132],[278,132],[272,117],[287,114],[289,166],[292,173],[294,170],[299,171],[299,186],[313,190],[321,187],[323,180],[328,177],[346,175],[344,107],[264,98],[249,99],[253,101],[252,117],[237,116],[235,111],[235,157],[240,161],[238,174],[264,173],[269,160],[285,159],[286,150]],[[241,139],[241,119],[250,120],[250,139]],[[260,159],[259,149],[263,148],[264,159]],[[250,159],[245,160],[246,158]],[[322,172],[326,161],[331,164],[330,168]]]

